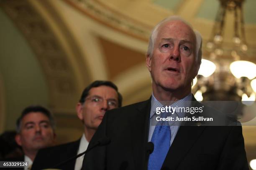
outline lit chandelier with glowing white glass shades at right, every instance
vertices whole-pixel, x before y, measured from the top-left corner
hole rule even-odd
[[[219,0],[215,24],[210,40],[206,44],[208,57],[202,59],[192,91],[197,100],[255,101],[256,64],[246,60],[248,45],[245,37],[244,0]],[[229,18],[227,20],[227,18]],[[230,19],[231,18],[231,19]],[[225,32],[225,27],[233,30]],[[225,34],[231,33],[232,43],[223,45]],[[248,102],[246,102],[248,104]]]

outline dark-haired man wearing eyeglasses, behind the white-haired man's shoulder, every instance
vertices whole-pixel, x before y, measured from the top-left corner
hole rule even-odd
[[[32,170],[53,168],[55,165],[84,152],[100,125],[107,110],[122,105],[122,96],[113,82],[97,80],[87,86],[77,103],[77,117],[84,125],[82,137],[72,143],[39,150]],[[84,156],[64,163],[58,167],[62,170],[81,170]]]

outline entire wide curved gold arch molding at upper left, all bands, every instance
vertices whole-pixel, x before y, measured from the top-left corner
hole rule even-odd
[[[77,42],[61,23],[63,20],[51,1],[1,0],[0,7],[36,54],[48,83],[50,107],[53,110],[74,108],[77,102],[74,97],[79,96],[91,76],[80,60],[84,54],[79,53]]]

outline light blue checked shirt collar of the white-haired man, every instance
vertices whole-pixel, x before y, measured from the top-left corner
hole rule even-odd
[[[189,107],[191,105],[191,100],[192,100],[192,94],[189,93],[189,95],[185,96],[181,100],[174,102],[171,106],[173,106],[173,107],[176,107],[176,106],[177,107]],[[155,96],[152,92],[150,118],[155,114],[156,107],[163,107],[163,105],[161,104],[161,102],[159,102],[155,98]],[[179,113],[179,114],[182,117],[184,117],[184,115],[185,115],[184,113]]]

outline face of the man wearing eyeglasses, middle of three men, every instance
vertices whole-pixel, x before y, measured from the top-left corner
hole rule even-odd
[[[112,87],[93,87],[85,98],[84,104],[77,104],[77,116],[85,128],[96,130],[105,112],[118,107],[118,94]]]

